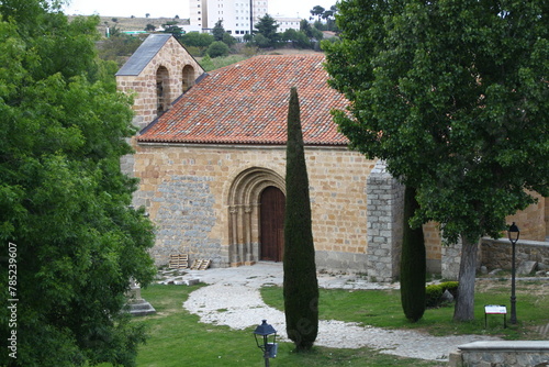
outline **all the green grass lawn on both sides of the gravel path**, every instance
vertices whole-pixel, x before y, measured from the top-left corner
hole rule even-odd
[[[321,290],[320,312],[322,319],[354,321],[390,329],[421,329],[434,335],[486,334],[507,340],[539,340],[540,330],[549,324],[548,282],[517,283],[517,325],[503,329],[503,318],[489,318],[484,330],[484,304],[508,305],[507,282],[479,281],[475,297],[477,320],[470,323],[453,323],[452,307],[427,310],[417,323],[408,323],[402,314],[399,291],[379,290]],[[137,366],[265,366],[261,351],[256,346],[253,329],[234,331],[227,326],[203,324],[197,315],[182,308],[188,294],[201,286],[150,286],[142,290],[157,313],[136,318],[149,332],[146,345],[139,348]],[[265,287],[261,293],[266,302],[282,309],[282,289]],[[507,320],[508,321],[508,320]],[[309,354],[295,354],[293,344],[281,343],[272,367],[298,366],[446,366],[446,363],[400,358],[379,354],[369,348],[337,349],[315,347]]]

